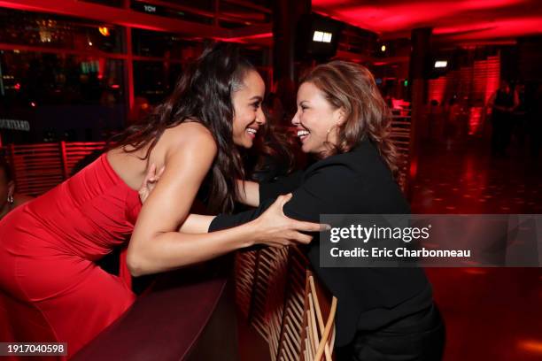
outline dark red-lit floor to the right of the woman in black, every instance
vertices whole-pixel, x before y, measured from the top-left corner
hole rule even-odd
[[[483,140],[422,149],[414,213],[542,213],[542,163]],[[542,360],[542,268],[428,268],[447,327],[445,361]]]

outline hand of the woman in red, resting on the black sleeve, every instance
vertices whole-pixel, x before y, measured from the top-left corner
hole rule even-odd
[[[279,196],[275,203],[258,219],[254,219],[255,243],[272,247],[283,247],[293,243],[308,244],[313,236],[301,232],[321,232],[329,225],[290,219],[284,215],[283,206],[291,199],[291,193]]]

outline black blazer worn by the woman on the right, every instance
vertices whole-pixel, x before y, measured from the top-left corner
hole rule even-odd
[[[216,231],[258,218],[276,196],[293,192],[284,214],[319,222],[321,214],[406,214],[410,207],[376,147],[363,141],[354,150],[322,159],[289,177],[259,186],[260,205],[252,211],[215,218]],[[431,288],[420,268],[321,268],[318,234],[306,247],[314,271],[337,296],[337,346],[357,329],[376,330],[429,307]]]

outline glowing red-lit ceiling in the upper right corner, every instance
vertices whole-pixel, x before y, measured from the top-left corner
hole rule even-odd
[[[376,33],[409,33],[415,27],[433,27],[433,34],[453,40],[456,37],[457,40],[484,40],[540,34],[542,16],[530,10],[530,4],[534,6],[534,3],[525,0],[312,1],[315,12]]]

